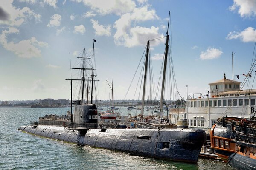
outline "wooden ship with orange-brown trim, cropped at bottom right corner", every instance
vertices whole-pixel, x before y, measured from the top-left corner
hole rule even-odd
[[[210,132],[211,147],[237,170],[256,169],[256,122],[253,120],[223,117]]]

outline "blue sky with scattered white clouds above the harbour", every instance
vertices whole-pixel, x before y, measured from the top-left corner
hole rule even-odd
[[[234,75],[241,75],[234,80],[244,80],[256,41],[256,0],[1,0],[0,100],[70,99],[70,64],[84,47],[91,54],[93,39],[99,99],[109,99],[111,78],[115,99],[134,99],[126,92],[147,40],[166,35],[169,11],[183,98],[207,92],[224,73],[232,79],[232,52]],[[158,71],[164,43],[151,42]]]

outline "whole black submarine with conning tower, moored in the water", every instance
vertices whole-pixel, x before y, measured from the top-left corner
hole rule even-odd
[[[20,131],[64,142],[137,156],[197,163],[205,142],[204,130],[177,129],[113,129],[98,122],[95,104],[75,102],[73,122],[40,118],[38,125],[22,126]]]

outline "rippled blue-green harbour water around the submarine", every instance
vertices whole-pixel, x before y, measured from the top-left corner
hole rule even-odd
[[[69,108],[0,108],[0,170],[232,170],[223,161],[199,158],[198,164],[152,160],[128,153],[40,138],[18,129],[46,114]],[[128,114],[123,109],[122,114]]]

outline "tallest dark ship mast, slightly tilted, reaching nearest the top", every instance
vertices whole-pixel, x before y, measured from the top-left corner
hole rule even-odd
[[[169,11],[169,20],[170,20],[170,11]],[[162,80],[162,89],[161,89],[161,97],[160,97],[160,109],[163,109],[163,92],[164,92],[164,85],[165,85],[165,76],[166,76],[166,65],[167,65],[167,57],[168,57],[168,42],[169,42],[169,20],[168,20],[168,27],[166,32],[166,48],[165,48],[165,55],[164,55],[164,65],[163,65],[163,80]]]

